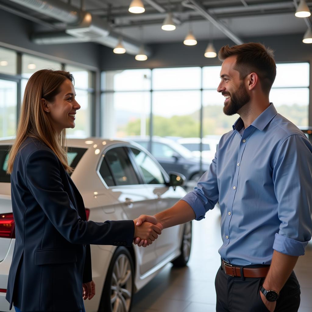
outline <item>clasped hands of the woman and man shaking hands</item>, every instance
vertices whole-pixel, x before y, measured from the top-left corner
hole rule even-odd
[[[149,246],[163,230],[163,225],[153,216],[141,215],[134,222],[134,244]]]

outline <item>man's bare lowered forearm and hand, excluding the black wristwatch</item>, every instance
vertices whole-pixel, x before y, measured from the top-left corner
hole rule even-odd
[[[285,255],[275,250],[273,252],[270,270],[263,283],[264,289],[275,290],[277,293],[280,293],[280,290],[283,288],[290,273],[294,269],[297,260],[298,256]],[[268,310],[274,311],[276,301],[270,302],[266,300],[262,292],[260,292],[260,295]]]

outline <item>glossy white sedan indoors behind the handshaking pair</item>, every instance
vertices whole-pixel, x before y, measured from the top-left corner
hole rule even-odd
[[[9,311],[5,300],[7,278],[15,243],[7,153],[12,140],[0,141],[0,311]],[[186,193],[183,176],[170,176],[155,158],[135,143],[99,138],[68,139],[71,178],[79,189],[89,220],[135,219],[171,207]],[[129,312],[133,294],[168,262],[185,266],[192,241],[192,223],[163,230],[152,245],[91,245],[92,276],[96,294],[85,301],[87,312]],[[120,289],[121,291],[117,291]],[[30,299],[31,300],[31,299]]]

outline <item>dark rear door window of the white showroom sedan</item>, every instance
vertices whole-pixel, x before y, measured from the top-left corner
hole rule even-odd
[[[123,147],[110,149],[104,158],[109,165],[116,185],[139,184],[129,156]]]

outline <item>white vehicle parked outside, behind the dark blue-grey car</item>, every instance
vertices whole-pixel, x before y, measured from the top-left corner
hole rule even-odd
[[[217,145],[219,144],[220,137],[202,138],[202,159],[210,160],[215,157],[217,152]],[[200,138],[181,138],[177,143],[189,149],[195,157],[200,157]]]

